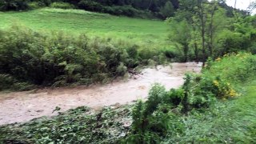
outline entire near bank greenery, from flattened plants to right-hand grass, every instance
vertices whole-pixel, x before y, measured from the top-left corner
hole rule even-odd
[[[200,75],[188,74],[178,90],[155,85],[148,100],[135,105],[110,106],[98,111],[82,106],[53,118],[1,126],[0,141],[254,143],[254,62],[254,55],[230,54],[208,62]],[[230,63],[231,73],[226,73]],[[248,77],[239,78],[241,68]]]

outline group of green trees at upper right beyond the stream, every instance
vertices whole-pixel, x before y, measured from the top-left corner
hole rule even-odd
[[[183,56],[183,62],[218,58],[224,54],[256,52],[256,17],[228,10],[218,1],[181,0],[170,23],[169,39]]]

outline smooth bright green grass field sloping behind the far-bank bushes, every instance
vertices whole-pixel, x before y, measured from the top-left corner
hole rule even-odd
[[[62,30],[71,34],[121,38],[146,46],[168,46],[168,25],[159,20],[50,8],[0,13],[0,18],[0,28],[16,24],[33,30]]]

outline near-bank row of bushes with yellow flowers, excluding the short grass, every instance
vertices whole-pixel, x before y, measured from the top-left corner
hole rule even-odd
[[[134,106],[132,133],[126,142],[158,143],[186,135],[181,115],[206,110],[218,99],[239,96],[237,85],[254,78],[255,62],[256,57],[251,54],[229,54],[209,60],[202,74],[186,74],[184,85],[178,90],[153,86],[148,100]]]

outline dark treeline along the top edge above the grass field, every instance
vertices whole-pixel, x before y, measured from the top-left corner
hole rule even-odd
[[[0,10],[31,10],[42,6],[64,9],[81,9],[114,15],[140,18],[168,18],[183,6],[182,0],[0,0]],[[202,0],[202,2],[208,2]],[[233,8],[225,2],[218,2],[233,17]],[[241,14],[246,11],[237,10]]]

